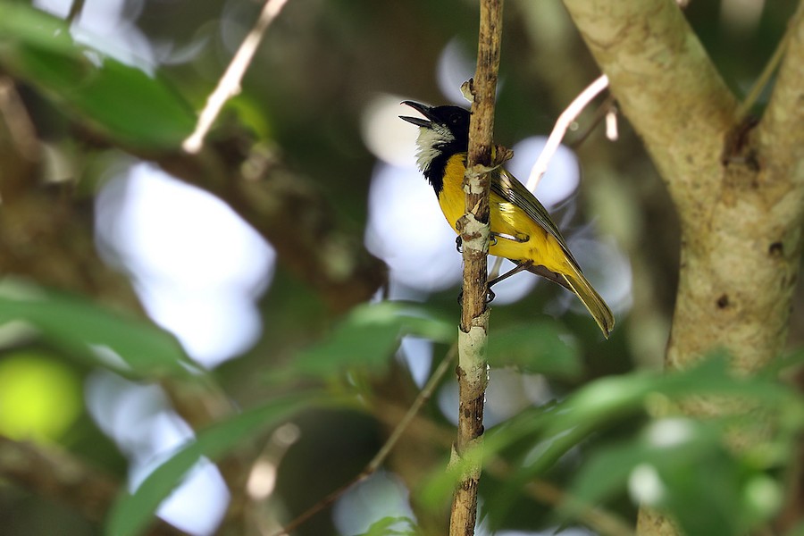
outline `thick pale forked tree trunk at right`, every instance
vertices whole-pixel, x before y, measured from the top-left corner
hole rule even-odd
[[[666,367],[718,348],[751,373],[787,337],[804,212],[804,24],[791,20],[787,52],[761,121],[733,94],[671,0],[565,0],[673,198],[682,225],[679,288]],[[750,408],[719,398],[690,415]],[[744,438],[743,438],[744,440]],[[737,436],[737,441],[742,440]],[[643,510],[640,534],[676,534]]]

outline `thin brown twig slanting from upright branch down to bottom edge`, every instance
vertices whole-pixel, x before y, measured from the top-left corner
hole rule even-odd
[[[380,450],[377,451],[377,454],[374,455],[372,460],[365,465],[364,470],[360,474],[358,474],[351,481],[340,486],[337,490],[332,491],[325,498],[322,498],[312,507],[308,508],[304,513],[298,515],[293,521],[285,525],[280,532],[274,532],[272,536],[287,536],[291,531],[296,530],[299,525],[305,523],[308,519],[321,512],[325,507],[329,507],[352,486],[363,482],[366,478],[375,473],[377,469],[379,469],[380,466],[385,463],[385,460],[388,458],[391,450],[396,447],[399,439],[402,437],[402,434],[405,433],[407,427],[410,426],[410,423],[413,423],[415,416],[422,409],[422,406],[424,406],[424,404],[430,400],[432,393],[435,391],[436,387],[438,387],[440,381],[444,378],[444,374],[446,374],[449,370],[449,364],[455,360],[456,353],[457,345],[452,345],[452,348],[449,348],[447,355],[444,356],[444,359],[432,373],[430,380],[427,381],[421,392],[419,392],[419,395],[414,400],[414,403],[408,408],[405,416],[402,417],[402,420],[399,421],[396,428],[394,428],[394,431],[391,432],[388,440],[385,441],[385,444],[382,445]]]

